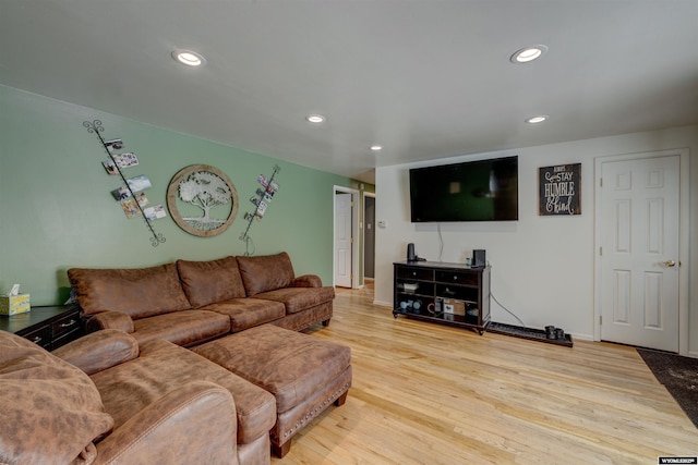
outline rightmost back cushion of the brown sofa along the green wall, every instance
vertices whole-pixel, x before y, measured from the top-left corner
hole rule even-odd
[[[286,287],[296,277],[291,258],[286,252],[260,257],[238,257],[238,266],[248,297]]]

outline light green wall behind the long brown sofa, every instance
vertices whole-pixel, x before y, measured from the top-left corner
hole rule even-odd
[[[240,204],[236,221],[215,237],[196,237],[169,217],[153,222],[166,242],[153,247],[141,218],[127,219],[109,194],[120,186],[101,166],[107,159],[84,121],[101,120],[105,138],[122,138],[139,157],[127,178],[145,174],[152,205],[166,205],[171,178],[190,164],[226,173]],[[62,302],[71,267],[147,267],[178,258],[205,260],[242,255],[239,240],[252,209],[260,174],[280,167],[280,186],[264,219],[250,235],[255,255],[286,250],[297,274],[333,279],[334,185],[342,176],[166,131],[101,111],[0,86],[0,293],[13,283],[31,294],[32,305]]]

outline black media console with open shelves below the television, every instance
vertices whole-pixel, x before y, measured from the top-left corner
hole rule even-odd
[[[393,316],[476,329],[490,323],[490,267],[441,261],[397,261]]]

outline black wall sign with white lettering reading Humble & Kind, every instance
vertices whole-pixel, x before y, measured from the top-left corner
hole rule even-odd
[[[581,215],[581,163],[539,169],[541,216]]]

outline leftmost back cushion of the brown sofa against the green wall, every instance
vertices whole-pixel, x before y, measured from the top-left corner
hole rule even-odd
[[[68,277],[85,315],[112,310],[145,318],[191,308],[174,264],[151,268],[71,268]]]

